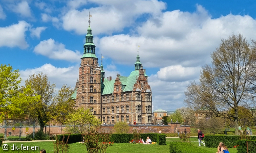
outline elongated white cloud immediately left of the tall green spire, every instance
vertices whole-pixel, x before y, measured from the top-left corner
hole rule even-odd
[[[34,52],[49,57],[50,59],[72,62],[78,62],[82,57],[77,50],[73,52],[72,50],[66,49],[64,44],[55,42],[53,39],[40,41],[40,43],[35,46]]]

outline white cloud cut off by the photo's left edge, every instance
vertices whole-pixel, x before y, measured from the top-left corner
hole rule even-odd
[[[9,27],[0,27],[0,47],[19,47],[26,49],[29,45],[26,42],[26,31],[30,24],[26,21],[19,21],[17,24],[9,25]]]

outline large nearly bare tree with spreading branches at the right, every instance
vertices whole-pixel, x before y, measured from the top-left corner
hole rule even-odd
[[[184,102],[194,110],[206,108],[234,122],[238,133],[239,106],[250,107],[255,90],[255,45],[241,35],[222,40],[211,54],[212,66],[202,68],[199,83],[191,82]],[[230,109],[234,114],[228,113]]]

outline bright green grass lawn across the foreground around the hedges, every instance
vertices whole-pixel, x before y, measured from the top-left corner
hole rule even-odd
[[[132,152],[132,153],[148,153],[148,152],[154,152],[154,153],[160,153],[160,152],[169,152],[169,142],[171,141],[179,141],[179,138],[167,138],[166,143],[167,145],[161,146],[161,145],[156,145],[156,144],[151,144],[151,145],[145,145],[145,144],[129,144],[129,143],[117,143],[113,144],[112,146],[109,146],[108,149],[106,150],[107,153],[127,153],[127,152]],[[193,137],[190,138],[190,143],[192,143],[195,146],[198,146],[198,140],[197,138]],[[12,146],[14,143],[6,143],[10,146]],[[52,142],[22,142],[22,143],[15,143],[15,145],[20,146],[21,144],[23,145],[30,145],[30,146],[39,146],[39,149],[46,149],[47,153],[53,152],[54,147]],[[206,148],[204,146],[201,146],[201,148],[210,150],[212,153],[215,153],[217,151],[216,148]],[[8,150],[8,151],[3,151],[2,148],[0,148],[0,152],[6,152],[6,153],[11,153],[11,152],[22,152],[22,151],[13,151],[13,150]],[[23,151],[24,153],[30,153],[30,152],[39,152],[39,151]],[[81,143],[73,143],[70,144],[70,149],[69,153],[80,153],[84,152],[86,153],[86,146],[84,146]],[[237,153],[237,150],[234,150],[233,148],[229,148],[230,153]]]

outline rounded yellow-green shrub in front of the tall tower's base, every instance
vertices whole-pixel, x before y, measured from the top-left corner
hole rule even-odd
[[[65,131],[86,134],[89,131],[95,131],[99,125],[100,120],[91,113],[90,109],[81,107],[67,116]]]

